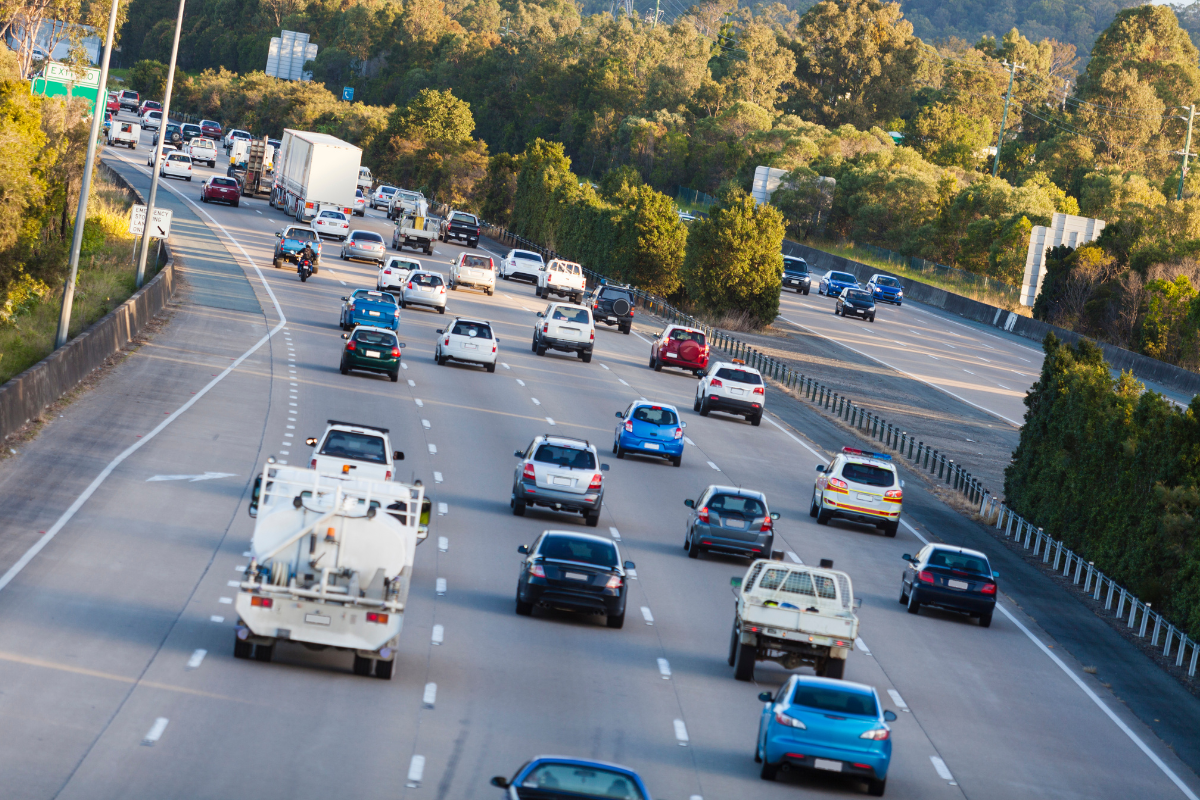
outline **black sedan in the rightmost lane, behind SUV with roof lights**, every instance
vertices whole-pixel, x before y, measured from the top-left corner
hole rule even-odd
[[[934,606],[979,618],[991,625],[996,610],[996,578],[988,557],[979,551],[948,545],[926,545],[917,557],[905,554],[908,567],[900,578],[900,602],[910,614]]]

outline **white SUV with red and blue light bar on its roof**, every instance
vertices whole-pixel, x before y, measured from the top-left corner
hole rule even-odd
[[[904,507],[904,481],[896,475],[892,456],[857,447],[842,447],[829,465],[817,464],[809,516],[818,525],[834,517],[865,522],[895,536]]]

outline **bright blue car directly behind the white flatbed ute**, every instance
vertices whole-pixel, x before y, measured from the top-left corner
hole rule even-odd
[[[866,782],[868,794],[883,796],[892,760],[894,711],[884,711],[872,686],[833,678],[792,675],[766,703],[758,722],[755,760],[762,778],[774,781],[791,769],[840,772]]]

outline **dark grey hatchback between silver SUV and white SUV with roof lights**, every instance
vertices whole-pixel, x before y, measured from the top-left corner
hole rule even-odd
[[[778,513],[767,509],[767,495],[733,486],[709,486],[696,500],[684,500],[691,509],[683,546],[689,558],[701,551],[772,558]]]

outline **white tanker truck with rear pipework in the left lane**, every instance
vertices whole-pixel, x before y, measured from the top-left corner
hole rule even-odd
[[[234,656],[270,661],[278,642],[295,642],[353,652],[355,674],[390,680],[416,545],[427,535],[425,489],[272,462],[250,505]]]

